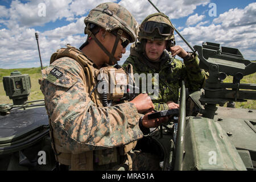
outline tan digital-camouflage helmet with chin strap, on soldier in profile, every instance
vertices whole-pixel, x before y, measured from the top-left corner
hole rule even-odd
[[[106,51],[102,45],[100,46],[101,49],[110,57],[110,59],[114,59],[115,49],[117,47],[117,43],[122,35],[122,31],[125,31],[129,35],[129,42],[124,42],[125,45],[129,44],[130,42],[135,42],[137,40],[138,34],[138,23],[130,14],[128,10],[124,7],[118,5],[117,3],[107,2],[101,3],[94,9],[90,10],[90,13],[84,19],[85,23],[85,34],[88,34],[88,37],[92,36],[98,46],[100,46],[100,42],[97,41],[96,37],[90,31],[90,26],[93,24],[105,28],[108,32],[113,32],[114,30],[118,30],[115,34],[117,39],[115,39],[114,47],[112,49],[112,53]],[[127,40],[128,41],[128,40]],[[123,44],[122,44],[123,45]],[[124,46],[125,47],[125,46]],[[114,60],[115,63],[117,63]]]

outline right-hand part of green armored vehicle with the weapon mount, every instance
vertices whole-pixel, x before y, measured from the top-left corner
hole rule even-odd
[[[256,63],[217,43],[194,48],[200,68],[209,72],[204,89],[186,96],[183,82],[178,118],[144,137],[137,149],[160,154],[163,170],[255,170],[256,110],[223,105],[256,100],[256,84],[240,83],[256,72]],[[232,83],[223,82],[227,75],[233,76]],[[165,110],[149,117],[170,114],[174,112]]]

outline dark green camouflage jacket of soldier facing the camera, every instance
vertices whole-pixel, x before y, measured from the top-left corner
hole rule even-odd
[[[133,45],[134,46],[134,45]],[[131,46],[130,56],[123,63],[122,67],[126,68],[128,64],[133,65],[134,73],[158,73],[159,81],[158,97],[154,97],[152,102],[155,105],[156,110],[167,110],[169,109],[166,104],[168,101],[173,101],[177,103],[179,99],[179,88],[181,86],[181,81],[185,81],[185,86],[188,88],[189,92],[195,92],[203,87],[205,80],[205,72],[199,68],[198,57],[192,57],[191,60],[184,60],[184,63],[178,59],[173,59],[173,57],[164,50],[160,61],[157,64],[152,64],[144,55],[140,55],[136,48]],[[142,82],[136,83],[141,86]],[[152,85],[157,83],[152,80]],[[148,93],[150,94],[150,93]]]

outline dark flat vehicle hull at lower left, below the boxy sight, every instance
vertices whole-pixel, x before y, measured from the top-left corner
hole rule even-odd
[[[53,169],[46,109],[15,109],[0,115],[0,170]]]

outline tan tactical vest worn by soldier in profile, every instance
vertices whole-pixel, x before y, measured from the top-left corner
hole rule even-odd
[[[88,58],[75,47],[67,46],[67,48],[61,48],[57,50],[57,52],[53,53],[53,55],[51,56],[50,64],[52,64],[53,61],[61,57],[70,57],[76,60],[77,63],[81,65],[86,75],[86,80],[84,84],[88,86],[88,93],[92,92],[93,88],[98,82],[96,76],[100,72],[106,71],[106,69],[101,69],[100,71],[99,69],[94,68],[92,61],[89,61]],[[94,104],[97,105],[97,107],[103,107],[101,96],[97,92],[97,89],[95,89],[94,92],[90,94],[90,98],[94,102]],[[51,126],[51,122],[49,122],[49,124]],[[61,146],[61,143],[59,142],[59,139],[57,139],[56,133],[52,130],[52,127],[50,135],[52,139],[52,148],[53,151],[55,151],[55,158],[57,162],[69,166],[71,170],[93,170],[95,160],[97,160],[97,164],[105,165],[108,163],[117,162],[117,159],[120,155],[126,155],[129,169],[131,169],[132,167],[132,161],[131,156],[129,155],[129,151],[135,148],[137,144],[136,141],[131,142],[123,147],[106,149],[108,150],[107,152],[105,150],[96,150],[86,151],[82,154],[72,154],[70,151],[65,150],[65,148]],[[104,155],[104,153],[108,153],[108,156]]]

